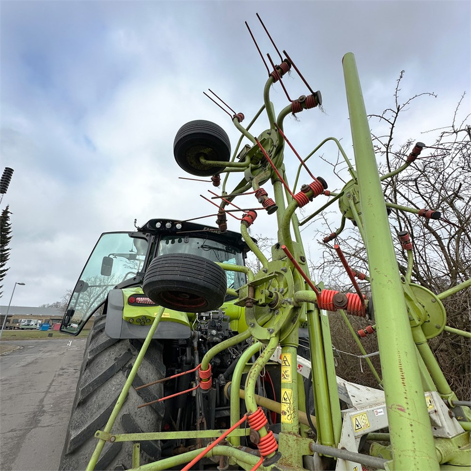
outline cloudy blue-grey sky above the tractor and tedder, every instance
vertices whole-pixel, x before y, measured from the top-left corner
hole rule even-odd
[[[260,108],[266,71],[244,21],[262,52],[276,53],[256,12],[278,48],[322,92],[324,113],[286,120],[301,156],[335,136],[353,158],[345,52],[356,56],[370,113],[393,104],[403,69],[405,99],[438,95],[408,111],[398,141],[424,140],[420,131],[449,124],[463,92],[470,109],[469,1],[2,0],[0,8],[1,171],[15,170],[1,203],[13,213],[1,304],[15,282],[26,286],[16,288],[13,305],[60,299],[102,232],[131,231],[134,219],[142,225],[152,217],[212,212],[198,197],[212,187],[178,179],[187,175],[174,161],[173,141],[185,122],[208,119],[226,129],[234,149],[238,134],[230,118],[203,91],[211,88],[249,119]],[[285,84],[291,98],[308,94],[296,74]],[[278,111],[288,105],[279,85],[272,100]],[[254,130],[265,127],[261,119]],[[326,146],[322,155],[335,160],[337,152]],[[287,151],[291,182],[294,158]],[[319,158],[311,167],[332,189],[340,187]],[[275,234],[266,214],[253,228]]]

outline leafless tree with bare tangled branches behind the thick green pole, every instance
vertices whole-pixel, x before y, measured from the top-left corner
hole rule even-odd
[[[403,77],[404,71],[397,79],[392,107],[381,114],[370,115],[373,145],[383,175],[405,164],[415,146],[412,139],[401,145],[395,144],[394,137],[401,118],[419,98],[436,97],[433,93],[422,93],[402,101],[400,84]],[[411,212],[392,206],[390,214],[393,236],[408,231],[414,245],[412,282],[435,293],[471,278],[471,125],[470,114],[462,109],[464,101],[465,94],[448,118],[451,121],[449,125],[422,133],[420,140],[430,138],[433,141],[427,143],[419,157],[405,170],[382,182],[387,204],[412,209]],[[440,112],[445,116],[443,110]],[[335,165],[338,170],[339,163]],[[427,215],[423,209],[439,211],[440,218],[422,217]],[[323,259],[313,265],[312,271],[332,287],[351,290],[335,251],[322,241],[323,235],[333,232],[328,215],[319,215],[316,222],[322,226],[318,238],[323,247]],[[336,241],[340,242],[351,266],[366,272],[364,244],[349,221],[346,226]],[[399,243],[396,256],[399,270],[405,274],[407,253]],[[367,285],[364,287],[367,289]],[[443,302],[447,325],[469,331],[471,289],[462,290]],[[335,333],[333,338],[335,342]],[[429,343],[451,387],[459,397],[469,399],[470,341],[444,332]]]

